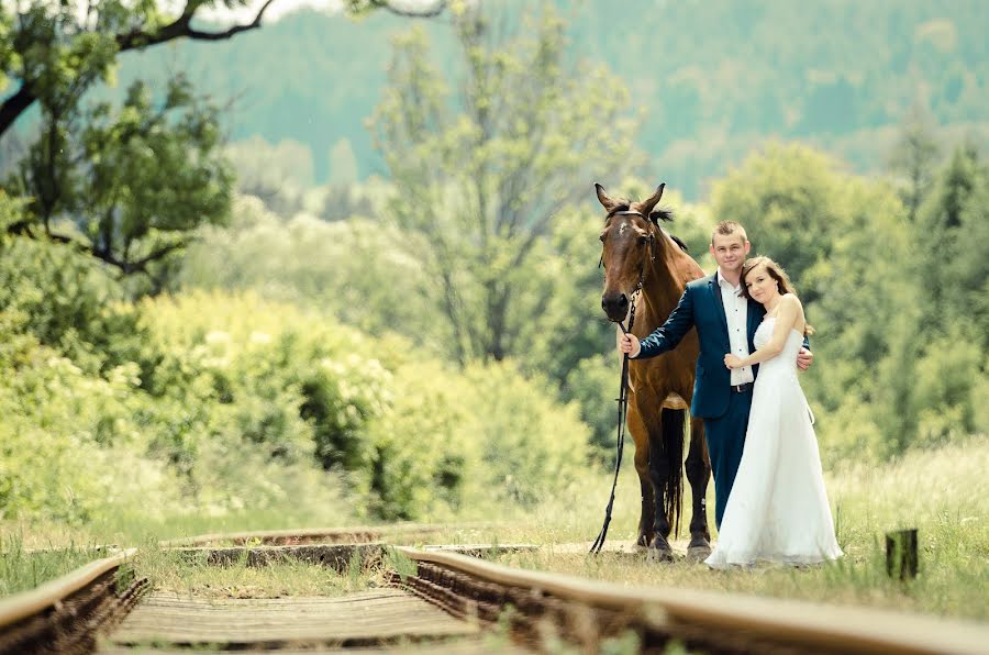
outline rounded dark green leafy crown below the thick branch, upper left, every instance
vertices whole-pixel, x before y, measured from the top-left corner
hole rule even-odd
[[[157,290],[158,264],[185,248],[191,230],[225,221],[233,180],[218,156],[216,110],[181,76],[159,102],[135,82],[119,112],[68,107],[60,116],[46,110],[44,122],[8,182],[30,198],[9,232],[78,244],[122,275],[147,275]]]

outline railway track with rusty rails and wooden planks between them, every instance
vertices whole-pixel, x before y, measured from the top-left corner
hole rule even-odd
[[[405,530],[390,533],[391,541],[415,530],[436,532]],[[320,543],[348,537],[349,543]],[[480,558],[482,546],[414,548],[389,545],[388,537],[367,529],[163,543],[208,565],[233,557],[248,566],[300,559],[336,570],[355,562],[390,565],[388,587],[337,599],[204,602],[149,593],[147,581],[130,567],[135,551],[120,552],[0,601],[0,653],[368,646],[479,653],[492,647],[538,652],[560,643],[590,653],[615,639],[642,652],[663,652],[676,641],[708,653],[989,653],[989,628],[982,624],[738,595],[632,589],[496,565]],[[213,545],[218,542],[235,545]],[[525,546],[498,549],[518,547]],[[392,554],[386,557],[388,549]],[[482,634],[492,631],[511,636],[512,645],[486,645]]]

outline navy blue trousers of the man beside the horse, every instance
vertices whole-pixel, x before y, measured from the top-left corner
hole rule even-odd
[[[714,525],[721,530],[721,518],[727,507],[727,497],[742,462],[745,431],[748,428],[748,410],[752,409],[752,385],[737,393],[731,392],[729,409],[716,419],[704,419],[711,473],[714,475]]]

